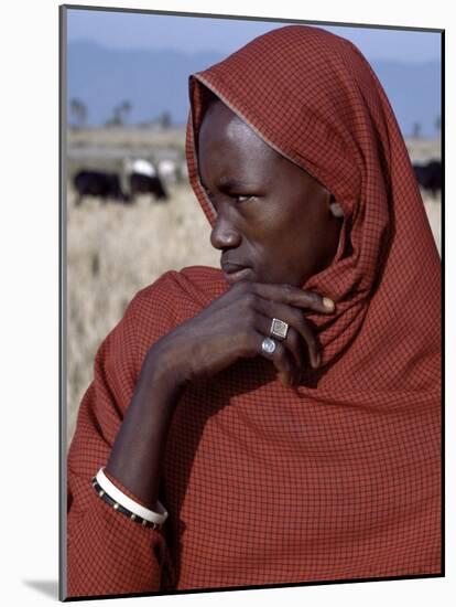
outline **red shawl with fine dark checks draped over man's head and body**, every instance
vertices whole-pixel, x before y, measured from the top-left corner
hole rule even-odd
[[[334,263],[303,285],[337,305],[307,313],[325,366],[286,388],[259,355],[185,388],[162,468],[170,518],[141,528],[90,478],[150,345],[229,287],[191,266],[142,289],[97,352],[68,454],[68,593],[438,574],[441,262],[383,88],[356,46],[305,25],[192,75],[187,163],[211,225],[194,146],[207,88],[344,210]]]

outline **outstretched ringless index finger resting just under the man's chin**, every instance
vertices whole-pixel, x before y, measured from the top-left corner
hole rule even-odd
[[[316,312],[333,313],[336,305],[329,297],[319,295],[315,291],[300,289],[293,285],[274,285],[268,283],[246,283],[246,288],[251,288],[265,299],[282,301],[297,308],[310,308]]]

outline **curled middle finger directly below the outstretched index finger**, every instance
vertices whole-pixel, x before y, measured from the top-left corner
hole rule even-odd
[[[308,321],[304,318],[301,310],[286,306],[285,303],[271,301],[263,299],[262,297],[256,297],[253,303],[256,311],[263,316],[261,319],[262,326],[258,327],[259,330],[269,336],[271,329],[271,322],[273,318],[279,318],[289,324],[289,332],[285,339],[285,343],[290,343],[290,348],[295,352],[296,365],[298,369],[304,369],[306,363],[303,360],[303,355],[300,355],[300,351],[304,348],[308,351],[308,361],[314,369],[317,369],[319,364],[318,343],[314,336]],[[267,326],[269,323],[269,326]],[[292,330],[293,328],[293,330]],[[303,339],[303,345],[301,340],[297,339],[296,333]],[[304,345],[305,344],[305,345]]]

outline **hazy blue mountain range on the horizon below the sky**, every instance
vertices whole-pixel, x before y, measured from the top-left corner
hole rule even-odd
[[[188,113],[188,75],[205,70],[226,55],[185,54],[173,50],[111,50],[93,42],[72,42],[67,47],[68,103],[78,98],[87,107],[87,124],[98,126],[112,117],[115,106],[131,104],[127,124],[156,119],[170,111],[172,121],[184,125]],[[370,61],[402,128],[409,136],[413,124],[433,137],[439,116],[441,71],[436,61],[402,63]],[[72,121],[72,116],[69,121]]]

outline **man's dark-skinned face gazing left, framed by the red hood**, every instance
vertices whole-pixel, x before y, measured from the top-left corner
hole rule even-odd
[[[330,264],[341,225],[330,193],[220,102],[205,114],[198,166],[217,213],[211,245],[251,269],[246,280],[300,287]]]

